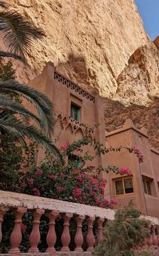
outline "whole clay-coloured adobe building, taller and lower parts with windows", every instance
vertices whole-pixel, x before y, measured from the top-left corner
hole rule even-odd
[[[105,156],[95,158],[93,165],[116,165],[128,167],[130,176],[103,173],[108,180],[106,198],[118,200],[118,205],[125,205],[131,199],[145,215],[159,217],[159,152],[152,149],[148,143],[146,131],[139,131],[129,120],[121,129],[105,134],[104,101],[95,88],[85,91],[78,85],[66,79],[57,72],[52,62],[48,62],[43,72],[29,83],[45,93],[54,106],[55,134],[53,143],[60,147],[66,142],[74,142],[83,136],[85,125],[95,129],[95,137],[102,144],[109,146],[137,146],[143,153],[144,162],[139,163],[135,154],[125,150],[110,152]],[[88,91],[89,90],[89,91]],[[93,149],[85,146],[93,154]],[[37,162],[43,158],[43,152],[38,155]],[[74,157],[79,152],[74,152]]]

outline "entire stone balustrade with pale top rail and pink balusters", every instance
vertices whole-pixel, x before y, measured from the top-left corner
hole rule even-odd
[[[39,253],[39,242],[41,240],[40,224],[41,217],[45,215],[48,219],[48,230],[46,236],[46,252],[51,255],[57,254],[57,239],[61,246],[58,250],[62,252],[91,252],[95,244],[102,240],[102,233],[106,219],[114,219],[114,211],[101,209],[88,205],[80,205],[71,202],[28,196],[14,192],[0,191],[0,242],[3,238],[3,217],[8,211],[14,214],[14,228],[10,235],[9,254],[20,254],[22,242],[22,217],[30,213],[32,218],[32,230],[28,236],[30,248],[28,253]],[[28,215],[30,216],[30,215]],[[59,221],[62,223],[62,232],[57,236]],[[75,223],[73,237],[70,235],[71,223]],[[83,224],[85,230],[83,230]],[[143,248],[159,246],[159,227],[155,224],[147,226],[150,237],[143,239]],[[1,246],[0,246],[1,249]],[[1,253],[1,251],[0,251]]]

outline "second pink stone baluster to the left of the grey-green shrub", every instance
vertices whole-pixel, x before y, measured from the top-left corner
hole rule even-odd
[[[87,217],[88,223],[88,233],[87,233],[87,251],[91,251],[95,244],[95,237],[93,235],[93,222],[95,221],[95,217]]]

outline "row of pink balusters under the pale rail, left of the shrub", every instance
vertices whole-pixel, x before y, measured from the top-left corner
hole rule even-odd
[[[0,224],[3,222],[3,215],[9,210],[9,208],[6,207],[0,207]],[[102,240],[102,232],[103,232],[103,223],[104,218],[100,217],[89,217],[87,215],[77,215],[76,213],[60,213],[59,211],[48,211],[43,209],[26,209],[22,207],[18,207],[17,209],[10,209],[14,213],[15,220],[14,220],[14,229],[12,231],[12,234],[10,236],[10,243],[11,243],[11,249],[8,253],[12,254],[20,254],[22,253],[19,249],[20,243],[22,241],[22,234],[24,234],[25,231],[22,232],[22,217],[26,213],[26,211],[29,211],[32,213],[33,219],[30,217],[30,221],[32,222],[32,230],[30,232],[30,236],[28,238],[30,242],[30,249],[28,249],[28,253],[39,253],[38,244],[41,240],[41,234],[39,230],[39,226],[41,223],[41,216],[45,215],[49,219],[49,227],[46,237],[47,242],[47,253],[51,253],[51,255],[57,255],[57,252],[55,250],[55,243],[57,240],[57,234],[55,232],[55,225],[58,225],[55,223],[55,219],[60,217],[60,219],[63,219],[63,231],[61,236],[61,242],[62,242],[62,248],[61,251],[68,252],[70,251],[69,245],[70,245],[70,219],[74,219],[76,221],[76,230],[74,234],[74,244],[75,249],[74,251],[77,252],[83,252],[83,243],[84,243],[84,236],[82,232],[83,227],[83,221],[87,223],[88,231],[85,233],[86,242],[87,245],[87,251],[91,251],[93,247],[95,246],[95,236],[93,234],[93,225],[95,223],[95,220],[97,222],[97,242],[100,242]],[[58,226],[57,226],[58,230]],[[1,234],[1,229],[0,229]],[[2,236],[2,234],[1,234]],[[0,236],[0,238],[1,238]]]

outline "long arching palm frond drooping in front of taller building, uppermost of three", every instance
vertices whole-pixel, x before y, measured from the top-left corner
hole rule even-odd
[[[49,131],[49,135],[53,133],[53,105],[46,95],[28,85],[20,84],[14,80],[0,80],[0,91],[12,91],[18,93],[34,104],[41,118],[43,129],[45,129],[46,133]]]

